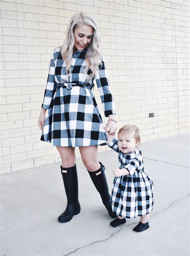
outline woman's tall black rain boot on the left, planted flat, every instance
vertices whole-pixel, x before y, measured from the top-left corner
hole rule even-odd
[[[79,214],[81,210],[78,200],[78,177],[76,164],[69,168],[61,166],[61,174],[67,195],[67,207],[58,217],[58,221],[68,222],[73,218],[73,215]]]

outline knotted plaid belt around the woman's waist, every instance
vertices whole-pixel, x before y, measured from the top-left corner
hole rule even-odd
[[[93,84],[90,84],[90,83],[75,84],[75,83],[67,82],[67,80],[61,78],[60,82],[57,85],[57,89],[58,88],[63,88],[63,99],[64,100],[65,100],[65,98],[67,98],[67,91],[72,89],[73,86],[79,86],[79,87],[87,88],[89,91],[93,91],[93,89],[94,89]],[[66,89],[66,91],[65,91],[65,89]]]

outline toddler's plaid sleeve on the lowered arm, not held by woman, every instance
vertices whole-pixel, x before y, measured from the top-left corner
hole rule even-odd
[[[125,165],[123,168],[127,169],[130,172],[130,175],[133,175],[134,173],[137,173],[140,168],[143,167],[142,165],[142,156],[139,154],[135,154],[135,152],[133,152],[131,154],[129,163]]]

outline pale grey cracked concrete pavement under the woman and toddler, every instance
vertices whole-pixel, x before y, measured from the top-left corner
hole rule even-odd
[[[189,134],[143,143],[144,166],[154,182],[150,229],[134,233],[139,217],[113,228],[101,198],[77,158],[81,213],[70,222],[57,217],[66,206],[65,190],[56,162],[2,174],[1,255],[189,255]],[[109,189],[113,151],[99,153]]]

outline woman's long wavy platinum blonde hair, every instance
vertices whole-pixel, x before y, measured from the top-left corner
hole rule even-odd
[[[87,80],[89,82],[91,78],[95,76],[95,71],[102,66],[102,63],[101,51],[99,49],[100,35],[98,31],[98,26],[95,19],[91,17],[88,13],[77,12],[71,17],[71,20],[69,21],[69,25],[67,27],[66,39],[63,43],[63,46],[61,47],[61,55],[67,65],[66,73],[68,74],[67,77],[69,77],[69,75],[71,74],[71,61],[73,56],[73,47],[75,43],[74,32],[77,29],[77,27],[81,25],[87,25],[92,27],[93,29],[91,43],[87,46],[87,53],[85,56],[87,66],[84,70],[84,74],[87,75]]]

